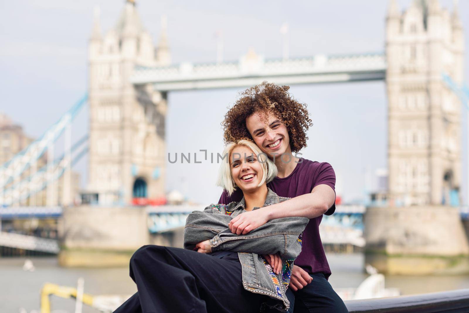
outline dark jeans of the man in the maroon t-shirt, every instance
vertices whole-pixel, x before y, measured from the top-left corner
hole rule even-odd
[[[287,290],[290,301],[288,313],[348,313],[342,299],[332,289],[331,284],[322,273],[311,274],[311,283],[298,291]],[[268,313],[278,313],[277,310],[267,310]]]

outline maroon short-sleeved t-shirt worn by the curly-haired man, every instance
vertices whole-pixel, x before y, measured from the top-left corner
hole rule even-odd
[[[293,172],[285,178],[274,178],[267,187],[281,197],[295,198],[302,194],[309,194],[311,190],[318,185],[325,184],[331,186],[335,192],[335,172],[329,163],[319,163],[316,161],[301,158],[301,163],[296,164]],[[224,191],[221,194],[219,203],[228,204],[242,199],[242,191],[236,189],[234,193],[228,196]],[[331,215],[335,211],[335,204],[326,212]],[[295,265],[303,268],[310,274],[323,273],[326,278],[331,275],[329,263],[325,258],[324,248],[319,237],[319,224],[321,224],[322,215],[311,218],[303,231],[303,245],[300,255],[295,260]]]

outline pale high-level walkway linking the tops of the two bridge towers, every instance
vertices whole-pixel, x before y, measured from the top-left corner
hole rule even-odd
[[[314,84],[384,80],[384,53],[315,55],[264,59],[248,52],[240,60],[220,63],[181,63],[167,67],[136,66],[130,81],[151,83],[159,91],[237,88],[268,81],[277,84]]]

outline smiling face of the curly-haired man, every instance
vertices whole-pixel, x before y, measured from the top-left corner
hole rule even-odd
[[[270,158],[291,154],[288,129],[272,112],[267,116],[264,112],[255,112],[246,119],[246,127],[257,146]]]

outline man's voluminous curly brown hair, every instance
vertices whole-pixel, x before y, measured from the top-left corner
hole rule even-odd
[[[221,123],[225,143],[240,139],[253,141],[246,127],[246,119],[255,112],[262,112],[267,123],[267,115],[272,112],[287,127],[292,152],[306,147],[306,131],[313,123],[308,116],[307,105],[296,101],[288,89],[289,86],[263,82],[244,90],[241,98],[234,103]]]

